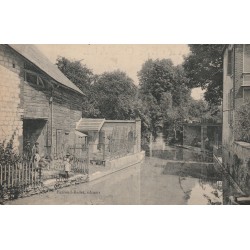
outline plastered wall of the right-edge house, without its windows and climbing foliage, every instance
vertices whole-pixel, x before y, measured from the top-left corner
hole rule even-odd
[[[239,142],[239,136],[234,130],[238,115],[237,109],[243,103],[243,48],[242,44],[234,45],[234,70],[231,76],[227,75],[228,47],[224,51],[223,59],[223,166],[243,192],[250,195],[250,144]],[[233,119],[229,120],[229,91],[233,88]],[[232,188],[227,186],[227,190]],[[228,195],[233,195],[231,190]]]

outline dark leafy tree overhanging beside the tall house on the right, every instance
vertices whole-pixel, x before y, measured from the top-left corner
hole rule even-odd
[[[220,105],[223,86],[223,44],[189,45],[190,54],[183,67],[190,88],[205,89],[204,98],[210,105]]]

